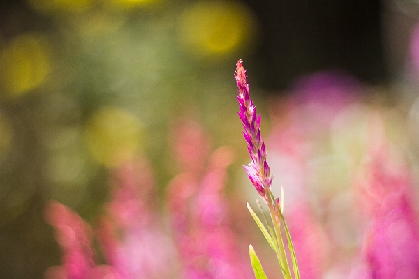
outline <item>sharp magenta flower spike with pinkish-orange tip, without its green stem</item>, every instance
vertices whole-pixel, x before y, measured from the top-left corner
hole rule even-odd
[[[249,84],[242,60],[237,61],[235,79],[238,88],[237,100],[240,106],[238,114],[243,123],[243,135],[251,158],[251,163],[244,166],[244,169],[259,195],[265,198],[265,188],[271,187],[272,175],[266,162],[265,143],[260,135],[260,114],[259,116],[256,114],[256,107],[249,96]]]

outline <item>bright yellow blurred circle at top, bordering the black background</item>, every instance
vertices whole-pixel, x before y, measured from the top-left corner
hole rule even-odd
[[[182,13],[179,36],[187,49],[200,56],[226,54],[249,40],[255,25],[242,3],[198,1]]]

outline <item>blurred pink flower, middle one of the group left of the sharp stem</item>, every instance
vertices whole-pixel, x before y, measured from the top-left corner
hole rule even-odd
[[[97,234],[105,259],[126,279],[174,276],[172,243],[153,208],[155,185],[145,158],[127,162],[112,176],[112,201]]]

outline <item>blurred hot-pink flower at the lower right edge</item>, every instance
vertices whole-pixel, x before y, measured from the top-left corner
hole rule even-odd
[[[419,278],[419,224],[410,174],[390,162],[384,147],[372,153],[358,185],[372,215],[362,245],[367,278]]]

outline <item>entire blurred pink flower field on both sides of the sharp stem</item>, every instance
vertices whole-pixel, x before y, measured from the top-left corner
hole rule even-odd
[[[362,100],[366,88],[346,75],[318,73],[293,90],[270,103],[266,149],[272,191],[284,185],[301,278],[417,278],[414,162],[392,143],[397,123]],[[110,201],[95,223],[57,202],[47,206],[62,264],[46,278],[253,278],[249,242],[267,275],[280,277],[244,210],[256,192],[244,179],[226,189],[237,151],[214,149],[191,118],[174,119],[170,130],[177,174],[164,195],[141,155],[112,169]]]

